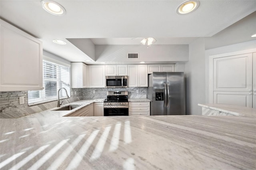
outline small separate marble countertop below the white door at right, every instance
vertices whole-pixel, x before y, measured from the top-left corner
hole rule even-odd
[[[235,116],[240,115],[240,116],[255,116],[256,117],[256,109],[249,108],[249,107],[226,105],[226,104],[214,104],[214,103],[198,104],[198,106],[205,107],[208,109],[213,109],[213,110],[224,112],[224,113],[228,113],[230,115],[235,115]]]

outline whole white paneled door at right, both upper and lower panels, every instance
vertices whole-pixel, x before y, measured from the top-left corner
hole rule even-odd
[[[214,58],[213,103],[256,107],[255,63],[255,53]]]

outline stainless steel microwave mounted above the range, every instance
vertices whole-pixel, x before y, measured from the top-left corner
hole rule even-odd
[[[106,76],[107,88],[127,88],[128,76]]]

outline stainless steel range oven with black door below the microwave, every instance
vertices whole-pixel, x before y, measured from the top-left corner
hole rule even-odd
[[[108,91],[104,116],[128,116],[128,91]]]

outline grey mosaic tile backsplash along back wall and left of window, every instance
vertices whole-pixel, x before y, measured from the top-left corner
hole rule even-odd
[[[93,93],[95,91],[95,93]],[[70,89],[70,97],[84,96],[85,99],[106,98],[107,91],[128,91],[128,98],[146,98],[146,87],[128,88],[75,88]],[[72,92],[72,95],[71,95]],[[138,92],[138,93],[137,93]],[[76,93],[76,94],[75,94]],[[25,103],[20,105],[19,97],[24,96]],[[22,109],[28,106],[28,91],[0,92],[0,113]]]

